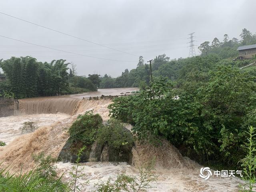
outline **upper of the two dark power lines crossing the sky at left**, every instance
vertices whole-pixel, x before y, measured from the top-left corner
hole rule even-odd
[[[73,35],[70,35],[70,34],[67,34],[67,33],[64,33],[64,32],[58,31],[58,30],[55,30],[55,29],[51,29],[51,28],[48,28],[48,27],[45,27],[45,26],[42,26],[42,25],[39,25],[39,24],[30,22],[30,21],[27,21],[27,20],[24,20],[24,19],[15,17],[15,16],[12,16],[12,15],[9,15],[9,14],[3,13],[3,12],[0,12],[0,14],[6,15],[6,16],[9,16],[9,17],[12,17],[12,18],[15,18],[15,19],[18,19],[18,20],[21,20],[21,21],[24,21],[24,22],[27,22],[27,23],[30,23],[30,24],[39,26],[39,27],[42,27],[42,28],[46,28],[46,29],[52,30],[52,31],[54,31],[54,32],[58,32],[58,33],[60,33],[60,34],[64,34],[64,35],[67,35],[67,36],[70,36],[70,37],[73,37],[73,38],[77,38],[77,39],[79,39],[79,40],[83,40],[83,41],[86,41],[86,42],[90,42],[90,43],[96,44],[96,45],[98,45],[98,46],[102,46],[102,47],[105,47],[105,48],[108,48],[108,49],[112,49],[112,50],[119,51],[119,52],[122,52],[122,53],[125,53],[125,54],[129,54],[129,55],[133,55],[133,56],[139,57],[139,56],[137,56],[137,55],[134,55],[134,54],[131,54],[131,53],[128,53],[128,52],[120,51],[120,50],[117,50],[117,49],[114,49],[114,48],[111,48],[111,47],[108,47],[108,46],[105,46],[105,45],[102,45],[102,44],[98,44],[98,43],[95,43],[95,42],[92,42],[92,41],[89,41],[89,40],[86,40],[86,39],[83,39],[83,38],[80,38],[80,37],[76,37],[76,36],[73,36]]]

